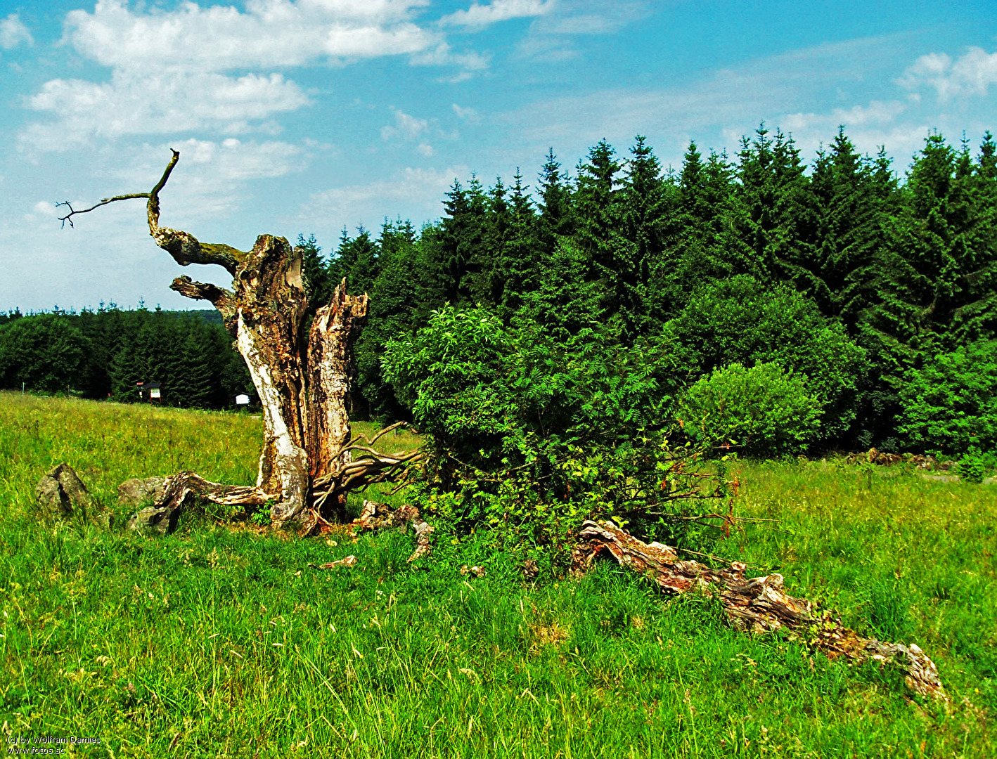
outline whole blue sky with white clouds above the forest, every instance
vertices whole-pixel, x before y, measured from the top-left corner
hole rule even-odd
[[[256,235],[438,218],[455,178],[532,182],[637,133],[680,165],[761,121],[811,159],[837,126],[902,173],[929,129],[997,130],[997,4],[621,0],[0,2],[0,311],[200,308],[142,201],[60,229],[53,204],[148,191],[163,223]]]

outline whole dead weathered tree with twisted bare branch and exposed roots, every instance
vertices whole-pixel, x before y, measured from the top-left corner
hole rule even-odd
[[[299,521],[305,531],[325,518],[342,519],[348,490],[387,479],[418,457],[416,451],[380,453],[371,447],[373,440],[364,446],[351,439],[351,355],[367,316],[367,296],[347,295],[344,279],[331,303],[318,309],[306,335],[308,300],[301,253],[283,237],[260,235],[252,250],[240,251],[201,243],[187,232],[160,226],[159,193],[179,159],[179,152],[172,153],[151,192],[106,198],[80,211],[70,206],[63,221],[72,224],[75,214],[116,200],[148,198],[150,234],[176,263],[216,264],[231,274],[231,290],[185,276],[170,285],[180,295],[209,301],[221,312],[263,408],[256,487],[226,491],[225,503],[240,503],[241,498],[247,506],[258,506],[272,501],[270,514],[277,526]],[[354,457],[358,451],[361,455]],[[169,500],[178,507],[190,493],[221,497],[218,490],[208,492],[196,485],[184,489],[180,482],[195,482],[191,477],[196,475],[176,475],[176,492],[170,491],[172,497],[158,506],[169,505]]]

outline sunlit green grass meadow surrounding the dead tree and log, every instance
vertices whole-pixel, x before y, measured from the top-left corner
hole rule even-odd
[[[107,757],[997,755],[997,486],[741,464],[752,524],[714,550],[851,626],[912,640],[950,703],[890,668],[736,633],[602,564],[524,581],[483,541],[298,540],[209,516],[164,538],[46,523],[61,461],[116,508],[133,476],[250,483],[260,421],[0,393],[0,722]],[[309,565],[357,557],[356,565]],[[483,578],[463,564],[482,564]],[[23,744],[22,744],[23,745]]]

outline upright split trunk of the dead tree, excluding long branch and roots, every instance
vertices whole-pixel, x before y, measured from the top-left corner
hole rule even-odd
[[[278,525],[314,526],[311,488],[350,461],[349,387],[353,343],[367,316],[367,296],[346,293],[318,310],[305,334],[308,302],[301,253],[282,237],[261,235],[241,257],[232,290],[178,277],[172,289],[206,298],[225,315],[263,408],[263,450],[256,487],[273,494]],[[345,516],[345,493],[325,501],[326,516]]]

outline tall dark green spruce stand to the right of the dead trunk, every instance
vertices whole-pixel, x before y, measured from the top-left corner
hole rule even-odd
[[[691,143],[678,171],[638,136],[626,155],[600,141],[570,173],[551,151],[533,187],[518,172],[511,185],[455,181],[443,218],[418,231],[344,231],[328,258],[314,238],[299,243],[312,287],[346,276],[370,293],[360,416],[407,412],[382,377],[384,347],[450,304],[562,345],[583,330],[667,344],[676,361],[662,380],[675,393],[732,364],[775,362],[820,401],[812,447],[952,447],[942,427],[956,418],[997,421],[994,390],[974,389],[959,358],[971,348],[997,363],[995,166],[989,132],[975,150],[928,135],[902,178],[843,128],[809,166],[765,127],[733,158]],[[913,408],[912,388],[937,376],[948,399]]]

